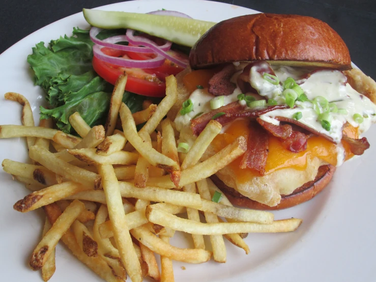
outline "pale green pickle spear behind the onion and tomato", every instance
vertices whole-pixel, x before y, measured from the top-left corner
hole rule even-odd
[[[154,35],[180,45],[192,47],[215,22],[128,12],[83,9],[92,26],[102,29],[132,29]]]

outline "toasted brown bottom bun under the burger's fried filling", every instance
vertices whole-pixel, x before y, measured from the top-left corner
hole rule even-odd
[[[320,166],[319,171],[317,172],[317,175],[313,181],[305,183],[301,187],[295,189],[291,194],[281,195],[281,202],[274,207],[269,207],[243,196],[234,188],[225,185],[216,175],[213,175],[210,178],[234,205],[256,210],[281,210],[291,208],[311,200],[329,184],[329,182],[332,180],[334,172],[335,166],[333,165],[328,164]]]

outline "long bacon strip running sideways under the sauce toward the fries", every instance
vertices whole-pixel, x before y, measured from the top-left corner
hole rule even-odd
[[[215,110],[212,110],[210,112],[207,112],[204,115],[199,116],[198,118],[192,120],[191,128],[194,135],[198,135],[201,133],[201,131],[204,130],[206,125],[210,122],[210,120],[213,118],[215,114],[218,114],[218,112],[224,112],[225,115],[222,115],[216,119],[217,122],[219,122],[222,126],[232,122],[238,118],[257,118],[261,115],[266,114],[269,111],[275,110],[275,109],[284,109],[287,108],[286,105],[277,105],[277,106],[271,106],[267,107],[265,109],[250,109],[246,108],[245,106],[242,106],[238,102],[232,102],[225,106],[222,106],[220,108],[217,108]]]

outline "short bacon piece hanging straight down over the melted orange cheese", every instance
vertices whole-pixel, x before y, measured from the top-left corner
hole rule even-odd
[[[251,168],[263,176],[269,152],[268,132],[255,122],[250,123],[249,129],[247,151],[243,155],[240,168]]]

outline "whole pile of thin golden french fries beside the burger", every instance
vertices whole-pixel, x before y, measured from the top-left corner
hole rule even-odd
[[[70,116],[81,137],[52,129],[50,120],[35,126],[28,101],[5,94],[23,106],[23,125],[0,126],[0,138],[26,137],[32,163],[5,159],[3,169],[33,191],[14,209],[43,208],[46,213],[43,238],[29,262],[42,271],[44,281],[55,271],[60,240],[106,281],[123,281],[127,274],[133,282],[145,276],[174,281],[172,261],[197,264],[213,256],[224,263],[224,239],[248,254],[244,235],[299,227],[301,219],[274,221],[270,212],[233,207],[224,194],[220,203],[213,202],[213,194],[221,191],[209,177],[246,151],[245,138],[201,162],[221,130],[212,120],[186,154],[178,153],[178,133],[165,118],[177,100],[176,78],[166,78],[166,97],[158,106],[145,101],[134,114],[122,103],[126,82],[121,75],[114,87],[105,126],[90,128],[77,112]],[[123,131],[115,129],[119,117]],[[192,234],[194,248],[170,245],[176,231]],[[212,251],[203,235],[210,236]]]

